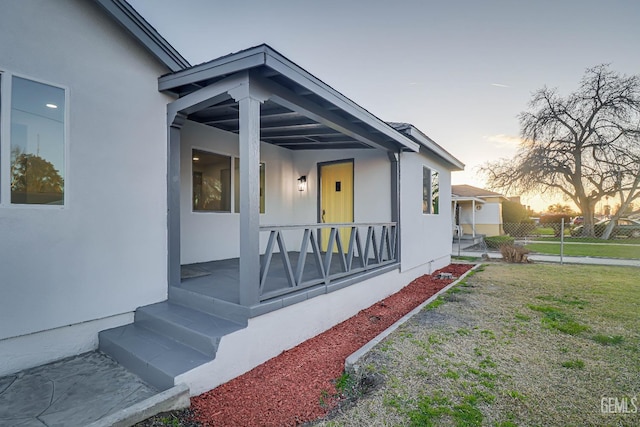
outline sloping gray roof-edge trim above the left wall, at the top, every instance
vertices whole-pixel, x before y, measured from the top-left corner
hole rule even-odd
[[[171,71],[191,67],[189,61],[180,55],[129,3],[124,0],[93,1]]]

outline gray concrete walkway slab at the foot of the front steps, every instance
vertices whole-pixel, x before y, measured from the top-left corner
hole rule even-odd
[[[87,426],[106,418],[113,425],[118,413],[157,395],[108,356],[85,353],[0,377],[0,426]]]

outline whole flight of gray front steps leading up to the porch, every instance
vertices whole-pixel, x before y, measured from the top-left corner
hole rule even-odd
[[[175,299],[180,304],[170,294],[168,301],[139,307],[134,323],[99,334],[101,351],[160,390],[173,387],[176,376],[215,359],[222,337],[247,325],[241,315],[225,312],[223,318],[208,307]]]

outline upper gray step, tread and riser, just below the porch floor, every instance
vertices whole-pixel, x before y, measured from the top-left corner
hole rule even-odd
[[[220,339],[245,325],[164,301],[140,307],[135,324],[215,358]]]

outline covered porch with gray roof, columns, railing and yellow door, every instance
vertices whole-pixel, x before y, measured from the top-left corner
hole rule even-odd
[[[170,300],[254,317],[398,268],[399,157],[415,141],[265,45],[159,87],[178,97],[168,105]],[[230,158],[224,211],[194,207],[196,148]],[[349,162],[351,214],[336,220],[322,167]],[[330,184],[344,192],[344,181]]]

